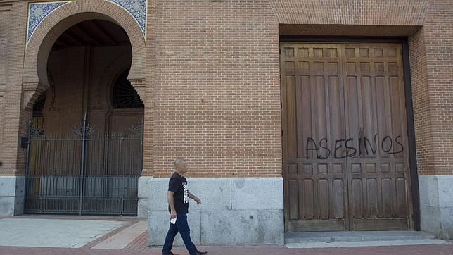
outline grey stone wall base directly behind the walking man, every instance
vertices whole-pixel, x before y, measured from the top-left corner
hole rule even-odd
[[[139,180],[139,217],[148,216],[148,244],[162,245],[170,225],[168,178]],[[189,204],[195,244],[283,244],[282,178],[188,178],[202,201]],[[177,235],[175,245],[184,245]]]

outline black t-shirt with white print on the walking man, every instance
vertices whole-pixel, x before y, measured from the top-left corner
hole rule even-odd
[[[168,182],[168,191],[174,192],[173,202],[176,214],[189,213],[189,187],[187,187],[186,178],[174,172]],[[170,205],[168,211],[171,212]]]

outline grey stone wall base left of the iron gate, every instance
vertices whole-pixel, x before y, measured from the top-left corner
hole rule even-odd
[[[0,216],[23,214],[25,176],[0,176]]]

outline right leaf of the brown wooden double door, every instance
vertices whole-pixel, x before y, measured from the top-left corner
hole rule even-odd
[[[411,229],[399,44],[345,44],[345,123],[351,230]],[[406,148],[406,151],[404,151]]]

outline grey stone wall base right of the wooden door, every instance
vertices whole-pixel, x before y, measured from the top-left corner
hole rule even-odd
[[[453,239],[453,175],[419,175],[421,229]]]

